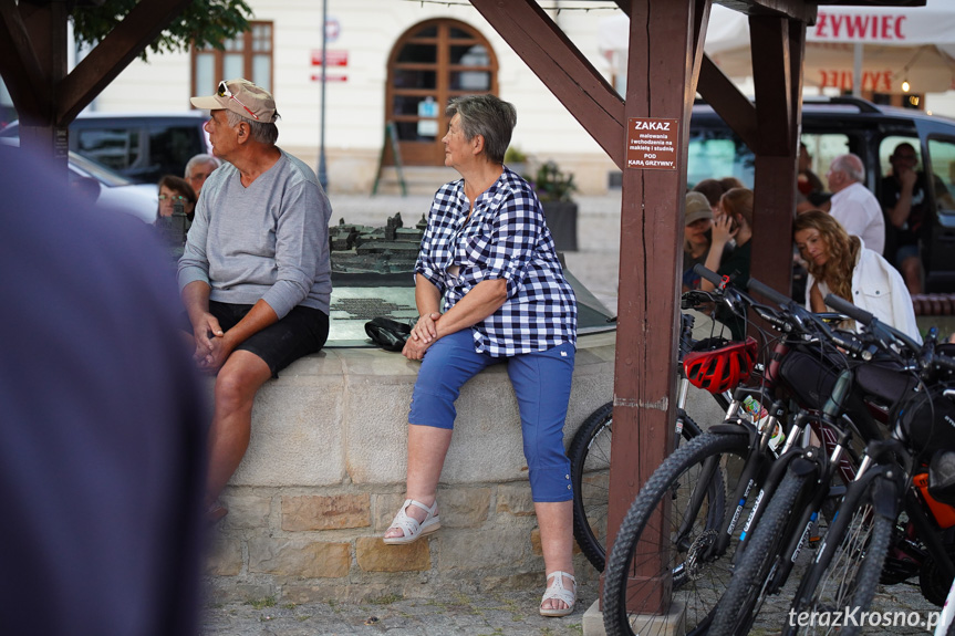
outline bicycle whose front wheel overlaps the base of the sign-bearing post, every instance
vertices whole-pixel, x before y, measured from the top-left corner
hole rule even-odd
[[[726,285],[725,280],[708,270],[703,269],[700,273],[715,278],[715,284]],[[797,353],[803,352],[802,355],[809,362],[816,363],[816,369],[829,374],[827,380],[819,383],[820,386],[831,386],[834,383],[831,368],[821,364],[821,358],[814,359],[803,351],[803,336],[811,334],[809,327],[814,323],[805,324],[792,315],[779,315],[738,290],[734,293],[764,320],[788,334],[788,338],[777,342],[774,347],[778,357],[767,367],[762,378],[764,386],[749,389],[750,395],[760,396],[762,404],[766,404],[766,398],[772,390],[787,387],[805,403],[818,400],[819,387],[813,385],[812,388],[817,389],[814,392],[806,390],[805,383],[800,387],[799,382],[793,382],[800,378],[787,377],[787,368],[782,365],[786,356],[796,356]],[[741,399],[745,395],[746,389],[738,389],[735,397]],[[749,505],[750,515],[739,533],[739,541],[745,540],[745,532],[758,521],[769,492],[764,487],[780,479],[770,469],[776,453],[769,450],[769,439],[786,413],[785,400],[772,402],[766,417],[759,420],[759,428],[747,419],[736,417],[734,409],[738,408],[738,402],[734,400],[725,424],[712,427],[709,431],[667,457],[631,504],[614,542],[604,581],[603,615],[608,634],[646,633],[646,625],[637,628],[630,621],[627,605],[633,605],[629,603],[631,592],[636,592],[634,596],[642,595],[643,592],[639,585],[630,588],[629,574],[644,577],[652,583],[648,587],[672,581],[674,592],[693,602],[686,616],[689,633],[703,633],[707,629],[715,601],[729,580],[730,562],[739,550],[734,532],[739,528],[743,513]],[[783,452],[793,448],[795,441],[801,437],[799,429],[805,423],[805,419],[797,420],[796,430],[787,434]],[[844,440],[830,435],[821,425],[813,421],[809,424],[831,448],[844,444]],[[840,470],[847,471],[843,478],[851,480],[852,458],[840,460],[837,465]],[[739,466],[743,467],[741,470],[737,470]],[[734,469],[725,470],[725,467]],[[717,472],[718,469],[722,473]],[[776,472],[778,473],[779,469]],[[728,478],[726,483],[724,478]],[[771,486],[769,489],[771,490]],[[731,497],[727,497],[730,492]],[[754,501],[750,497],[756,492],[758,494]],[[662,502],[671,504],[674,510],[663,509],[657,512]],[[645,551],[637,553],[641,541],[647,546]],[[674,557],[671,560],[672,548]],[[646,559],[654,560],[652,567],[644,563]],[[703,577],[709,578],[707,590],[702,590],[696,584]],[[646,609],[646,613],[660,613],[662,607],[650,608],[644,605],[643,609]]]

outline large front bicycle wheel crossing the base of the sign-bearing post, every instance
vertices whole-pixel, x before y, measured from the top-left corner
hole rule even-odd
[[[674,603],[685,606],[687,634],[706,630],[708,616],[730,577],[731,549],[707,554],[733,507],[726,492],[735,488],[728,465],[745,461],[749,437],[704,432],[667,457],[646,481],[627,510],[606,565],[603,591],[603,622],[611,636],[646,636],[662,632],[653,617],[666,609],[658,599],[641,614],[627,605],[643,603],[654,588],[672,580]],[[661,502],[669,502],[664,518]],[[691,510],[689,503],[700,504]],[[656,572],[645,572],[654,567]],[[643,580],[636,582],[636,577]]]

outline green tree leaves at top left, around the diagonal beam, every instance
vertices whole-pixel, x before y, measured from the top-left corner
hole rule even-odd
[[[138,0],[106,0],[98,7],[76,7],[73,10],[73,29],[76,40],[95,45],[118,24]],[[178,18],[167,27],[146,49],[148,53],[188,51],[196,46],[214,46],[222,50],[227,40],[249,30],[252,10],[243,0],[193,0]]]

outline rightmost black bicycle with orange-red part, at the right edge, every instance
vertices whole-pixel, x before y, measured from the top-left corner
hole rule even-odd
[[[953,455],[943,450],[952,448],[955,435],[951,432],[952,399],[951,375],[955,371],[955,358],[936,351],[936,332],[933,327],[918,346],[905,334],[874,320],[871,314],[849,305],[833,296],[826,299],[830,306],[839,306],[848,315],[865,325],[870,340],[890,356],[899,357],[895,348],[907,354],[905,369],[916,375],[918,383],[907,392],[905,399],[895,408],[894,426],[886,440],[870,442],[853,481],[839,509],[837,521],[831,525],[826,542],[816,561],[802,577],[791,605],[790,616],[821,609],[850,611],[853,616],[865,612],[872,602],[876,584],[894,583],[907,578],[911,567],[900,576],[892,563],[886,564],[890,549],[921,557],[920,586],[923,595],[941,605],[946,596],[942,582],[955,591],[952,581],[955,567],[951,560],[955,542],[945,528],[955,525],[955,491],[953,491]],[[934,452],[934,453],[933,453]],[[924,475],[924,457],[932,455],[930,475],[936,465],[947,461],[948,484],[932,496],[932,482],[915,488],[915,480]],[[946,457],[947,456],[947,457]],[[940,470],[941,471],[941,470]],[[937,477],[935,481],[941,481]],[[903,532],[895,528],[901,512],[907,521]],[[943,521],[943,515],[949,517]],[[916,545],[915,540],[923,545]],[[936,565],[925,567],[925,559]],[[913,562],[917,563],[916,559]],[[940,581],[938,577],[942,577]],[[887,580],[887,581],[886,581]],[[952,593],[948,593],[952,596]],[[785,634],[797,634],[800,627],[788,624]],[[810,629],[816,626],[807,625]],[[861,625],[850,624],[843,629],[854,634]],[[941,628],[940,628],[941,629]],[[806,632],[813,633],[813,632]]]

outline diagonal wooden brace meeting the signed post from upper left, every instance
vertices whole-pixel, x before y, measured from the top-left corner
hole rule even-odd
[[[471,4],[622,169],[623,100],[553,20],[534,0]]]

